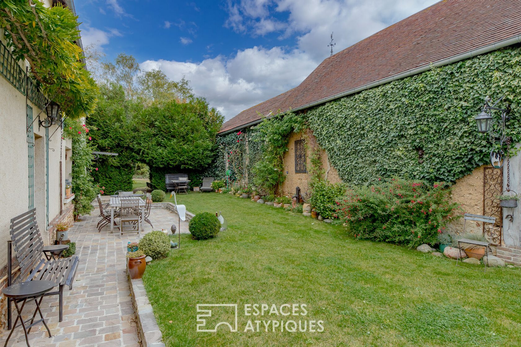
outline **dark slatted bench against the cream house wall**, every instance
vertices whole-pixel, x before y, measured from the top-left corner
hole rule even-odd
[[[78,269],[78,256],[52,260],[43,258],[45,247],[36,222],[36,209],[11,219],[9,234],[11,240],[7,241],[7,286],[30,280],[53,281],[58,289],[45,293],[45,296],[59,295],[59,321],[61,322],[63,320],[64,287],[69,286],[69,290],[72,289],[72,282]],[[13,248],[20,266],[20,273],[14,279],[12,278],[13,264],[11,262]],[[11,300],[14,299],[7,299],[9,329],[11,328]]]

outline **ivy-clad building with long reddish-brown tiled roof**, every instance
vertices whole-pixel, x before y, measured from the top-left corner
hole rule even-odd
[[[493,168],[492,143],[474,121],[485,96],[502,94],[512,119],[521,118],[520,10],[521,4],[492,0],[439,2],[328,57],[300,85],[225,122],[220,136],[240,131],[247,138],[274,114],[305,113],[309,133],[289,136],[280,194],[307,189],[309,173],[297,169],[309,164],[305,138],[320,147],[330,182],[402,176],[453,183],[453,199],[465,212],[497,217],[493,226],[473,223],[467,231],[485,233],[498,256],[521,265],[518,213],[493,198],[507,181],[519,186],[519,159],[510,158],[509,172]],[[221,166],[228,169],[226,160]]]

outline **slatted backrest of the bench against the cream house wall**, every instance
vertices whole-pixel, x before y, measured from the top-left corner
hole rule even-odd
[[[16,280],[24,279],[43,256],[43,239],[36,222],[36,209],[11,219],[9,234],[16,252],[16,260],[20,264],[20,275]],[[8,256],[10,256],[10,245],[8,247]],[[11,269],[8,271],[10,272]]]

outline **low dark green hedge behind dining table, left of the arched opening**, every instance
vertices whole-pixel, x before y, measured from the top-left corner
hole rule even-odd
[[[105,187],[105,195],[112,195],[117,190],[132,190],[132,176],[134,174],[132,166],[112,166],[104,162],[95,162],[94,166],[98,168],[97,171],[92,171],[94,183],[99,185],[100,189]]]

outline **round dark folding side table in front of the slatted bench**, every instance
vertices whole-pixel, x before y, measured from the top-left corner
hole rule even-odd
[[[20,322],[22,324],[23,333],[26,335],[26,343],[27,347],[31,347],[29,344],[29,339],[27,334],[31,331],[31,328],[39,323],[43,323],[45,328],[47,329],[47,332],[49,334],[49,338],[52,337],[51,330],[49,330],[49,327],[45,323],[45,319],[43,319],[42,311],[40,310],[40,303],[42,302],[42,299],[46,292],[53,289],[56,286],[55,282],[53,281],[45,281],[45,280],[33,280],[33,281],[27,281],[27,282],[21,282],[16,285],[12,285],[9,287],[6,287],[2,289],[2,293],[7,298],[7,300],[13,300],[15,303],[16,311],[18,316],[16,317],[15,324],[13,324],[13,328],[11,329],[11,332],[9,333],[9,336],[7,337],[7,340],[5,340],[4,347],[7,346],[7,342],[9,341],[9,338],[11,335],[13,335],[13,331],[15,331],[16,324],[18,323],[18,319],[20,319]],[[27,299],[34,299],[34,302],[36,303],[36,309],[34,310],[33,316],[30,319],[27,319],[25,322],[22,318],[22,310],[23,306],[25,306]],[[40,299],[40,300],[38,300]],[[22,305],[19,307],[18,303],[22,302]],[[40,319],[34,320],[36,317],[36,312],[40,314]],[[26,323],[31,321],[29,325],[26,326]]]

